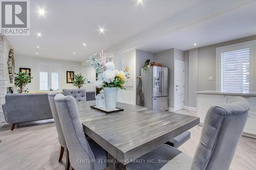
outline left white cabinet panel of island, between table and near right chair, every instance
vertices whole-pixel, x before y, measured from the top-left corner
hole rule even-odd
[[[204,122],[208,109],[218,103],[227,103],[227,95],[197,94],[197,116],[200,117],[200,123]]]

